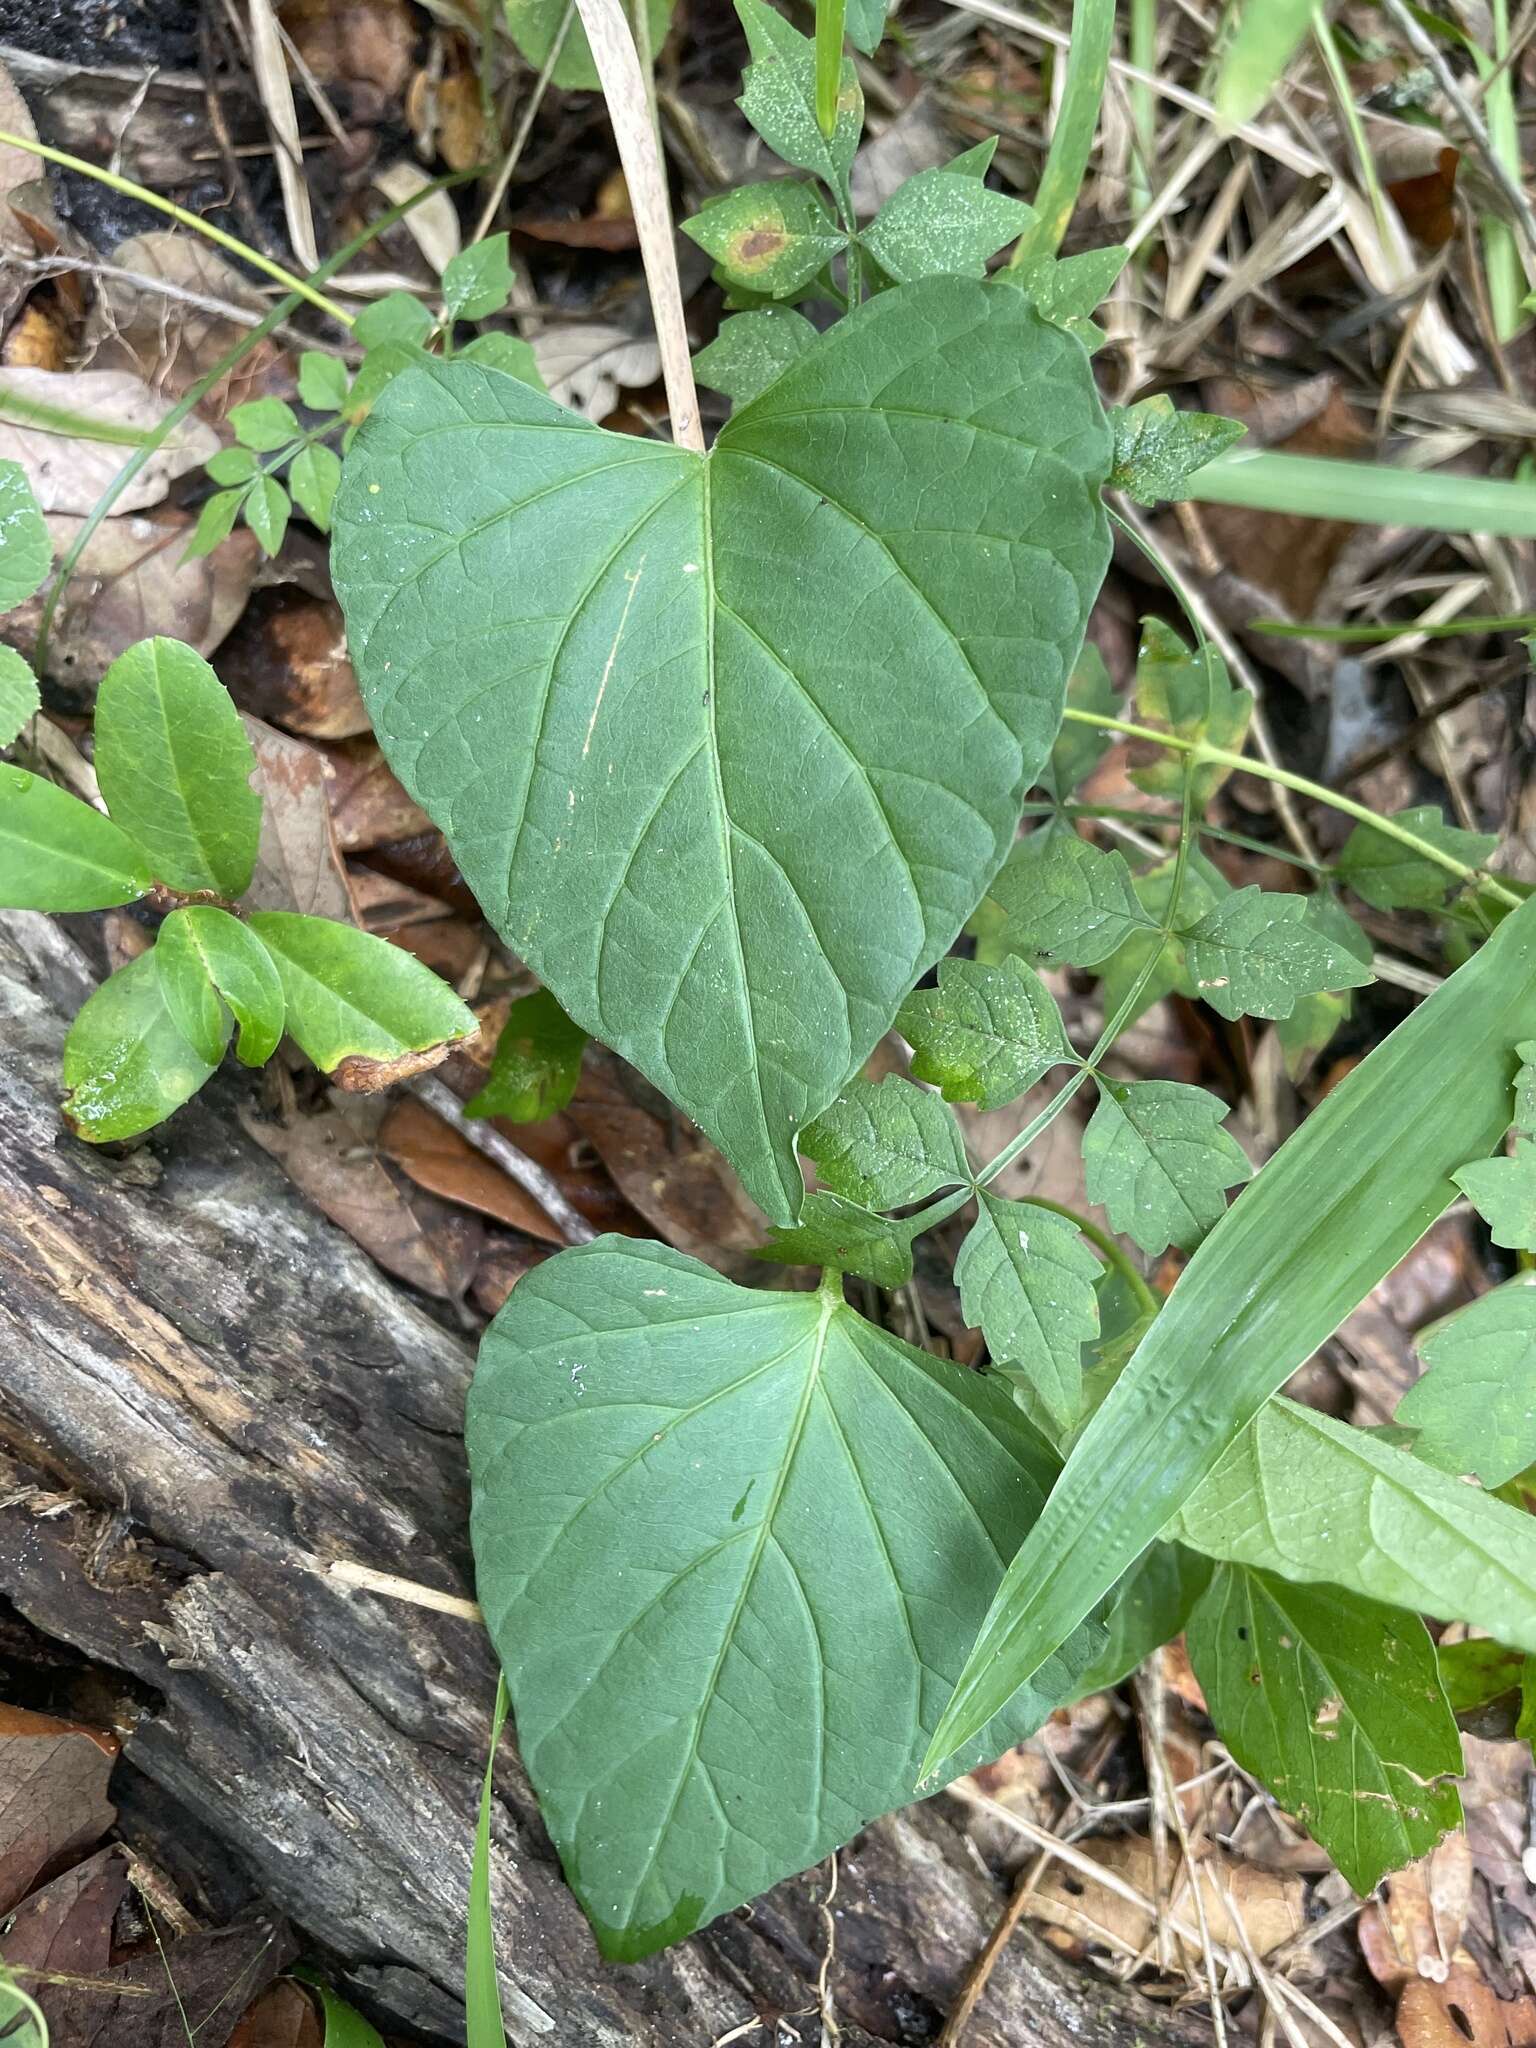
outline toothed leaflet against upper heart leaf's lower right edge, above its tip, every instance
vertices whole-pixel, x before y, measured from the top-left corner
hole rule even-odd
[[[938,987],[918,989],[897,1010],[911,1044],[911,1071],[946,1102],[999,1110],[1040,1075],[1077,1055],[1044,981],[1010,954],[997,967],[940,961]]]

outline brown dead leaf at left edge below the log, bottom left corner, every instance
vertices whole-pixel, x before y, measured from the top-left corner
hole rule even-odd
[[[113,1825],[115,1757],[111,1735],[0,1704],[0,1913]]]

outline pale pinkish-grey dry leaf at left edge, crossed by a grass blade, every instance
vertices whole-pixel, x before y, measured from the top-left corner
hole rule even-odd
[[[152,432],[170,412],[170,401],[129,371],[8,369],[0,377],[0,455],[23,465],[45,512],[82,516],[94,510],[131,451],[121,442],[27,426],[23,406],[29,412],[47,406],[61,414],[84,414],[139,432]],[[160,504],[176,477],[199,469],[217,446],[219,436],[205,420],[182,420],[117,500],[117,514]]]

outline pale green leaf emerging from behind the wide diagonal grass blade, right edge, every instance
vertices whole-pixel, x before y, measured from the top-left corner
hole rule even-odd
[[[1536,1651],[1536,1518],[1294,1401],[1260,1409],[1167,1536]]]

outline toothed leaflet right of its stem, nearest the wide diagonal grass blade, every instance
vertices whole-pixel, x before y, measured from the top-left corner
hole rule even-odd
[[[1157,1257],[1192,1251],[1253,1167],[1223,1130],[1227,1106],[1188,1081],[1102,1081],[1083,1133],[1087,1198]]]

